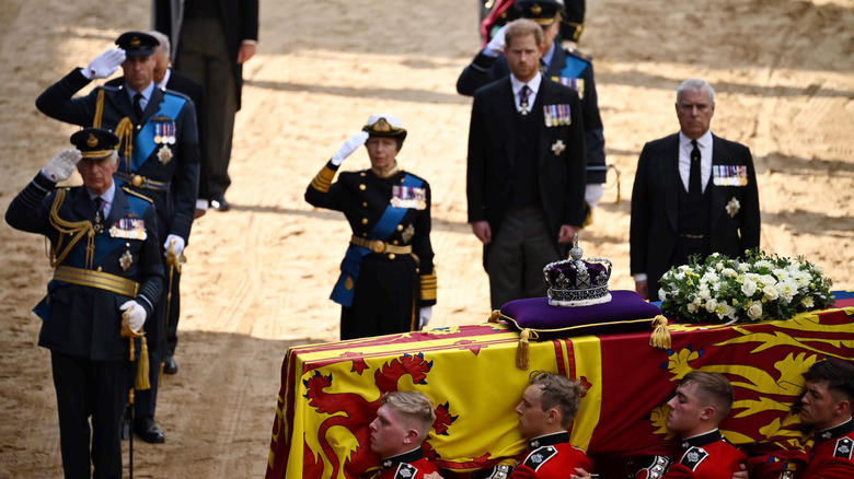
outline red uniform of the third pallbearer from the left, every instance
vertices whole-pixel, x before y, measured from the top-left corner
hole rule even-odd
[[[682,442],[684,452],[665,479],[720,479],[741,470],[747,455],[714,430]]]

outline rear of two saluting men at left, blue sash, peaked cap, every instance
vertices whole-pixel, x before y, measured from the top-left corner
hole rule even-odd
[[[193,103],[172,91],[155,87],[152,52],[158,40],[142,32],[116,39],[118,48],[97,56],[84,69],[74,69],[36,100],[38,109],[58,120],[112,129],[122,141],[122,161],[113,175],[119,185],[150,197],[158,214],[158,231],[165,237],[163,261],[171,248],[180,258],[189,241],[196,212],[199,148]],[[107,78],[118,69],[125,84],[100,86],[88,96],[72,97],[92,79]],[[154,422],[160,364],[163,355],[166,293],[164,288],[153,317],[146,324],[150,347],[151,389],[137,395],[136,432],[150,443],[165,441]],[[174,300],[174,299],[173,299]]]

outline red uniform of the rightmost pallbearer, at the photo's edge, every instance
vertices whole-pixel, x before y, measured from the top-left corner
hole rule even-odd
[[[816,433],[816,444],[808,449],[809,466],[803,479],[854,478],[854,421]]]

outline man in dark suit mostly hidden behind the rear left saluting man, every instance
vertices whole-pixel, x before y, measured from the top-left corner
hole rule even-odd
[[[160,32],[151,31],[149,35],[160,42],[154,48],[151,57],[154,59],[154,85],[161,90],[172,90],[174,92],[187,95],[193,101],[196,108],[196,121],[198,122],[198,143],[199,143],[199,177],[198,177],[198,198],[196,199],[196,215],[198,219],[204,217],[208,210],[208,162],[207,143],[205,142],[206,121],[205,115],[205,85],[192,78],[181,74],[171,68],[172,48],[169,37]],[[108,86],[119,87],[125,84],[124,78],[116,78],[106,82]],[[177,362],[175,362],[175,348],[177,347],[177,324],[181,318],[181,271],[175,268],[172,271],[171,285],[172,296],[166,307],[166,350],[163,355],[163,372],[166,374],[177,373]],[[169,285],[168,285],[169,287]]]

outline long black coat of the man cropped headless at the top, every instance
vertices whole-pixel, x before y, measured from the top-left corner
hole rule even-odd
[[[214,1],[214,0],[212,0]],[[226,37],[226,46],[234,70],[238,86],[236,98],[240,109],[240,92],[243,86],[243,66],[238,63],[238,51],[243,40],[258,39],[258,0],[215,0]],[[172,60],[181,48],[181,25],[184,22],[184,0],[151,0],[151,23],[153,28],[169,36],[172,42]]]

